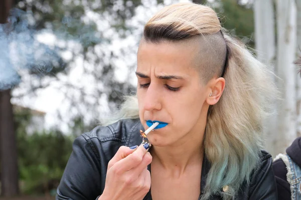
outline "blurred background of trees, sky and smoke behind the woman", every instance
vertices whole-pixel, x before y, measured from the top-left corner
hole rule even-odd
[[[55,198],[74,138],[135,91],[144,23],[187,1],[0,0],[0,199]],[[264,135],[273,156],[284,152],[301,136],[301,0],[192,1],[279,77]]]

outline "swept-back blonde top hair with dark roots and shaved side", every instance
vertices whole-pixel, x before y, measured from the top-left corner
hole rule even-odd
[[[192,9],[196,6],[193,3],[179,5],[167,6],[153,16],[144,26],[142,41],[185,42],[187,45],[197,43],[199,52],[196,53],[195,66],[204,83],[214,75],[223,76],[227,45],[216,13],[213,10],[200,13],[200,10]]]

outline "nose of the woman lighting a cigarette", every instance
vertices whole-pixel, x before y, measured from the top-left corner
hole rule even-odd
[[[162,108],[161,97],[160,89],[156,84],[150,83],[144,96],[144,110],[160,110]]]

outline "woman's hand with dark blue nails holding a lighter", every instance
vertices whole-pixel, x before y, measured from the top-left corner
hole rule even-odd
[[[150,188],[149,143],[131,149],[121,146],[108,163],[105,188],[99,199],[141,200]]]

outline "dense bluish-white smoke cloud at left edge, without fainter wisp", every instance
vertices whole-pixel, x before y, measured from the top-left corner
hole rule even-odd
[[[63,65],[57,47],[37,40],[41,33],[33,29],[28,13],[21,9],[12,9],[8,23],[0,24],[0,90],[18,85],[22,70],[43,76]]]

